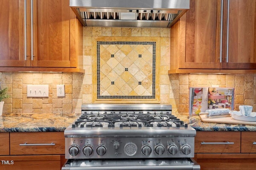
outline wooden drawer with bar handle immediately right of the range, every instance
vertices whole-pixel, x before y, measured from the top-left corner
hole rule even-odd
[[[195,153],[240,153],[240,132],[196,132]]]

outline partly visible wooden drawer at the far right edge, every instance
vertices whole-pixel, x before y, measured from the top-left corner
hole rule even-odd
[[[256,153],[256,132],[242,132],[241,152]]]

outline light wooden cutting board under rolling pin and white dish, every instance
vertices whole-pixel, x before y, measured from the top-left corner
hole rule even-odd
[[[234,124],[234,125],[256,125],[255,121],[240,121],[232,119],[231,116],[226,117],[206,117],[206,114],[199,115],[202,122],[207,123],[224,123],[224,124]]]

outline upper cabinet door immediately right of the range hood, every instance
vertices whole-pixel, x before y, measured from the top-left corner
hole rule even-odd
[[[221,68],[220,8],[219,0],[190,0],[185,25],[186,54],[180,60],[180,68]]]

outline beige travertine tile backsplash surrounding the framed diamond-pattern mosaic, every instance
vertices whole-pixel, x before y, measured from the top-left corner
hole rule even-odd
[[[92,103],[92,39],[94,36],[160,37],[160,103],[174,112],[188,112],[189,87],[219,85],[235,88],[235,109],[241,104],[256,108],[256,74],[170,74],[170,29],[84,27],[82,73],[0,72],[1,87],[12,98],[4,100],[4,113],[79,113],[82,103]],[[49,98],[27,98],[27,84],[48,84]],[[66,96],[56,96],[56,85],[65,84]],[[256,111],[256,109],[254,109]]]

